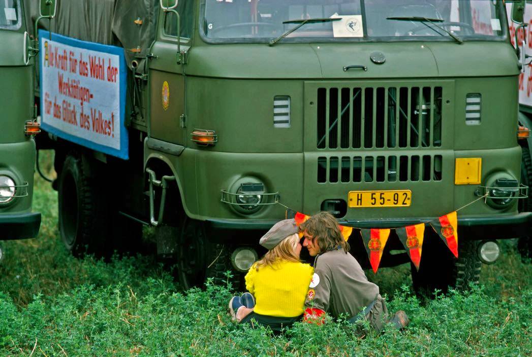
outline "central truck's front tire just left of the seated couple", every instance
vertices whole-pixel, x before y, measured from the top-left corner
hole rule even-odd
[[[202,287],[208,278],[215,284],[231,283],[240,287],[240,274],[231,265],[231,247],[228,244],[209,241],[205,236],[203,222],[186,218],[178,243],[178,277],[182,287]],[[232,278],[226,276],[231,271]]]

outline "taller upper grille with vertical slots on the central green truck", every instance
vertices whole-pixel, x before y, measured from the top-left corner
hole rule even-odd
[[[442,146],[442,87],[318,88],[318,149]]]

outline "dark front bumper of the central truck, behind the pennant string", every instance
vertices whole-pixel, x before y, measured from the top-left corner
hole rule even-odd
[[[396,228],[404,227],[435,218],[418,219],[379,219],[379,220],[342,220],[339,224],[358,228]],[[206,220],[209,231],[268,231],[278,220],[210,219]],[[510,239],[528,235],[531,230],[532,213],[518,213],[508,216],[458,217],[460,238],[464,240]]]

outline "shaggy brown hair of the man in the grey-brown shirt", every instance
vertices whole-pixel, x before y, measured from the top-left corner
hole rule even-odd
[[[306,231],[313,237],[313,241],[318,240],[320,252],[325,253],[329,250],[336,250],[342,247],[347,253],[350,249],[349,243],[344,240],[338,221],[328,212],[320,212],[300,225],[300,231]]]

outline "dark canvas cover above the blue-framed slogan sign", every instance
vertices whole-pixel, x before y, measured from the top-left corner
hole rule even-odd
[[[29,14],[28,29],[32,29],[39,16],[39,2],[25,1],[24,6]],[[47,20],[40,26],[79,40],[123,47],[131,67],[135,56],[146,56],[155,39],[157,11],[159,0],[58,1],[51,28]]]

